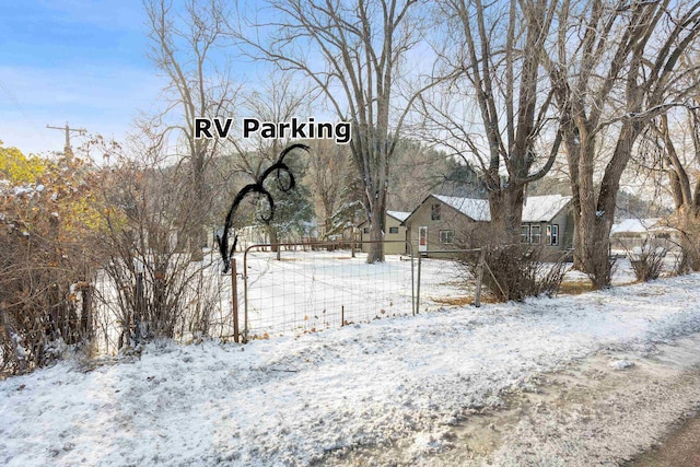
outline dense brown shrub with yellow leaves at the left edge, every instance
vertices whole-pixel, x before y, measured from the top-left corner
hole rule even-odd
[[[0,376],[28,372],[92,336],[95,211],[89,164],[0,145]]]

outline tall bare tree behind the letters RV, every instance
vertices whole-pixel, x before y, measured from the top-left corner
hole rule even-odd
[[[165,113],[177,113],[176,122],[166,125],[161,138],[167,140],[176,133],[179,156],[189,164],[189,186],[196,201],[197,215],[189,224],[182,224],[180,232],[189,243],[192,259],[201,260],[203,224],[212,195],[205,173],[222,140],[196,139],[195,118],[233,115],[238,90],[226,68],[217,67],[226,60],[220,46],[225,39],[228,12],[218,1],[187,0],[182,12],[168,0],[144,0],[144,7],[151,38],[149,56],[168,79],[165,91],[170,104]]]

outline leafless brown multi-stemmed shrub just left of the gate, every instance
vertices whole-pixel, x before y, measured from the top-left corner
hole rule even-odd
[[[190,186],[177,167],[121,161],[104,197],[107,225],[100,296],[103,339],[118,349],[154,338],[210,335],[220,278],[195,260],[187,229],[201,225]],[[201,248],[200,248],[201,250]],[[214,296],[215,295],[215,296]],[[118,338],[114,341],[114,323]]]

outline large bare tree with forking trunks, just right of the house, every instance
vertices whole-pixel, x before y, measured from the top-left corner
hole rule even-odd
[[[597,288],[610,282],[609,234],[620,177],[651,119],[682,102],[688,90],[676,85],[677,65],[699,32],[699,3],[562,4],[556,54],[546,65],[569,162],[574,261]],[[598,160],[603,154],[606,160]],[[598,172],[596,163],[603,165]]]

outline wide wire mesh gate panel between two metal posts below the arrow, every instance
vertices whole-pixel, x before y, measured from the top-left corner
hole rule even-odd
[[[248,247],[238,271],[245,337],[315,332],[413,314],[410,244],[405,255],[368,264],[361,247],[371,243],[357,243],[359,250],[323,242]]]

